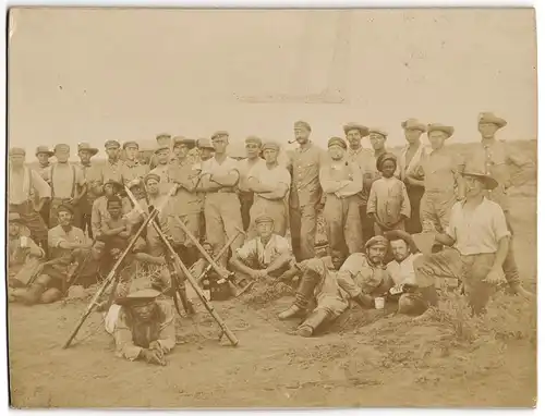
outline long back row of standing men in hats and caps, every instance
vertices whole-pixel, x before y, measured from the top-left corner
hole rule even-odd
[[[279,163],[279,144],[256,136],[245,140],[246,159],[229,157],[229,134],[225,131],[214,133],[209,140],[158,135],[148,164],[140,161],[136,142],[106,142],[107,160],[100,164],[92,162],[98,149],[85,143],[77,147],[80,163],[69,162],[66,144],[56,145],[53,151],[39,146],[36,169],[25,166],[24,149],[13,147],[10,212],[20,216],[29,236],[51,257],[49,252],[55,252],[60,241],[77,246],[69,237],[73,233],[70,227],[82,230],[89,242],[100,235],[129,234],[126,225],[111,219],[112,210],[120,210],[122,218],[134,210],[125,186],[136,196],[144,195],[148,204],[155,200],[155,206],[175,187],[161,212],[161,223],[190,264],[197,259],[198,250],[187,231],[206,240],[215,254],[229,242],[233,257],[243,246],[244,235],[251,240],[258,234],[256,220],[264,216],[271,220],[274,234],[283,237],[290,229],[295,261],[313,259],[319,212],[329,254],[346,259],[364,253],[365,243],[374,235],[391,231],[446,233],[452,207],[465,198],[462,174],[468,166],[497,181],[486,196],[499,204],[510,229],[506,191],[513,181],[509,167],[517,167],[518,178],[524,178],[533,174],[533,163],[496,139],[495,133],[506,124],[504,119],[482,113],[477,121],[481,146],[467,160],[445,146],[453,135],[452,126],[425,125],[415,119],[401,123],[408,144],[397,156],[388,151],[384,130],[349,123],[343,126],[346,137],[331,137],[324,151],[311,140],[311,125],[298,121],[294,136],[299,147],[289,152],[287,167]],[[423,134],[427,134],[431,148],[423,143]],[[362,146],[365,137],[371,151]],[[52,156],[55,163],[49,162]],[[70,213],[70,225],[59,223],[62,212]],[[180,227],[181,222],[185,227]],[[153,230],[148,234],[148,253],[160,255]],[[228,259],[226,252],[218,262],[228,267]],[[502,267],[513,291],[524,294],[511,243]]]

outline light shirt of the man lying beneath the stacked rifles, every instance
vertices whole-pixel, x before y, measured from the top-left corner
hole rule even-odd
[[[157,341],[164,353],[170,352],[175,346],[174,313],[172,306],[165,301],[157,301],[158,322],[156,333],[150,331],[149,326],[135,325],[128,319],[124,307],[119,308],[118,319],[113,329],[116,340],[116,356],[134,360],[138,357],[143,347]],[[138,333],[136,333],[138,331]],[[155,332],[155,331],[154,331]],[[138,345],[138,343],[141,345]]]

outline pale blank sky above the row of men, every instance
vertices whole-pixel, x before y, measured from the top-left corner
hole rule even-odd
[[[9,139],[32,155],[160,132],[286,144],[302,119],[319,144],[356,121],[399,146],[411,117],[476,140],[481,111],[508,120],[500,138],[535,138],[535,42],[531,9],[12,10]],[[343,103],[237,100],[328,85]]]

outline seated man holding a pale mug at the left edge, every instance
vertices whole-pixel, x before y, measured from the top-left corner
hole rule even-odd
[[[17,212],[10,212],[8,221],[8,285],[22,287],[37,271],[45,253],[31,237],[22,235],[21,229],[24,228],[24,223]]]

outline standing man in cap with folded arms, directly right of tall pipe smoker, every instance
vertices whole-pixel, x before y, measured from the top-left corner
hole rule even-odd
[[[360,167],[344,158],[347,143],[331,137],[327,144],[330,160],[319,170],[326,197],[324,219],[331,256],[346,257],[363,248],[358,194],[363,187]]]

